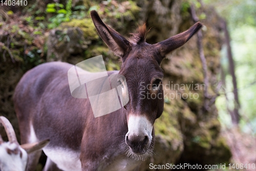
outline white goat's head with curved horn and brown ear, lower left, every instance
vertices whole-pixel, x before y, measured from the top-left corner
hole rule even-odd
[[[19,145],[9,120],[4,116],[0,116],[0,123],[4,126],[9,140],[9,142],[4,142],[0,135],[0,170],[24,171],[27,165],[28,154],[41,149],[49,143],[49,140]]]

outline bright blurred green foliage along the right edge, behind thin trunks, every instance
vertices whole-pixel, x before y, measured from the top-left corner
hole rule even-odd
[[[237,87],[241,109],[240,126],[243,131],[256,135],[256,2],[251,0],[204,0],[204,3],[212,5],[227,20],[231,38],[231,50],[235,62]],[[220,121],[226,127],[231,127],[231,118],[227,107],[234,108],[234,96],[232,93],[232,78],[229,74],[226,46],[222,47],[222,67],[224,68],[226,93],[217,98],[216,105],[219,110]],[[252,84],[251,84],[252,83]]]

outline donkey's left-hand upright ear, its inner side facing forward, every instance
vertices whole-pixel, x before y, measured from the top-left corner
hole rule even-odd
[[[95,10],[91,11],[91,17],[100,37],[117,56],[122,57],[131,50],[130,42],[117,31],[106,26]]]

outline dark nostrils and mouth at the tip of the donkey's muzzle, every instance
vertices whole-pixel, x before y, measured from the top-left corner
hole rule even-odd
[[[125,136],[125,142],[132,148],[132,151],[136,154],[144,154],[146,148],[150,142],[148,135],[128,135]]]

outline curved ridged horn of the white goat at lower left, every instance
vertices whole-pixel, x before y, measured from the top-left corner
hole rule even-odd
[[[18,143],[15,132],[13,130],[13,127],[10,121],[4,116],[0,116],[0,123],[2,123],[2,125],[5,127],[5,131],[10,143]]]

